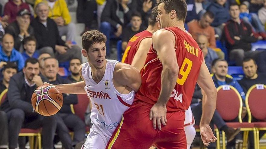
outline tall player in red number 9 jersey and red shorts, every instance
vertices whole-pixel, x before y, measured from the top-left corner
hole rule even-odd
[[[160,149],[186,149],[185,110],[196,82],[205,92],[200,122],[202,141],[209,145],[217,139],[209,127],[217,91],[202,51],[185,31],[187,4],[184,0],[159,0],[157,10],[163,29],[152,36],[141,72],[141,87],[109,140],[108,149],[147,149],[151,144]]]

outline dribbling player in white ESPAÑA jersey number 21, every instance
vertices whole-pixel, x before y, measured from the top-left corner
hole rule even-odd
[[[92,128],[82,149],[104,149],[122,114],[132,104],[141,76],[131,65],[105,59],[106,36],[92,30],[82,36],[88,62],[79,68],[83,81],[55,85],[62,93],[87,94],[92,102]]]

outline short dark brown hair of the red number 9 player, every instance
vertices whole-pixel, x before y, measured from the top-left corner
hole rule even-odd
[[[177,20],[185,20],[187,16],[187,3],[185,0],[159,0],[158,5],[161,3],[164,3],[166,14],[175,10],[177,12]]]

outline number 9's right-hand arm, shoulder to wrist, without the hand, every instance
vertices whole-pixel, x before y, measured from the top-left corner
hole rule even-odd
[[[216,107],[217,90],[204,61],[202,62],[200,67],[200,75],[197,80],[197,83],[204,91],[202,98],[203,106],[200,126],[206,126],[209,125]]]

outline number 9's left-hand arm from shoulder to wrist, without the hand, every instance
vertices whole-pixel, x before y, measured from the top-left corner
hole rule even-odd
[[[160,29],[153,36],[153,47],[163,65],[161,92],[157,103],[166,105],[177,82],[178,64],[175,52],[175,37],[170,31]]]

